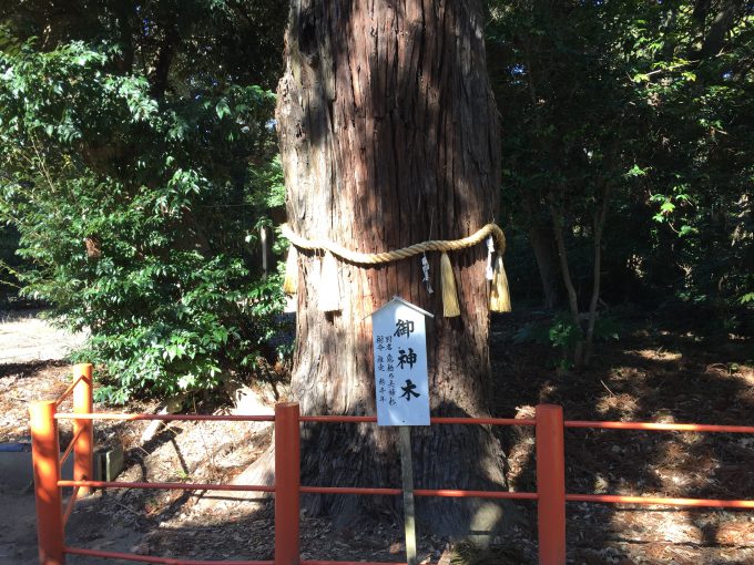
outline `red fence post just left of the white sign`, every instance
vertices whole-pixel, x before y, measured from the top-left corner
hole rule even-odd
[[[300,429],[298,404],[275,404],[275,565],[299,563]]]

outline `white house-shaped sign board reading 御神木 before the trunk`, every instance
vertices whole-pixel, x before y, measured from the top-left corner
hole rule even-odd
[[[377,425],[429,425],[427,316],[399,297],[371,315]]]

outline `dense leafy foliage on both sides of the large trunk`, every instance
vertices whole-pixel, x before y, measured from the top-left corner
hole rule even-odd
[[[487,4],[513,291],[538,286],[536,233],[560,232],[583,310],[607,209],[604,300],[681,300],[717,329],[746,328],[751,2]],[[115,400],[211,389],[277,355],[282,297],[256,246],[283,204],[271,91],[286,9],[0,7],[0,280],[92,331],[82,356],[108,368]],[[580,338],[558,320],[551,342]]]

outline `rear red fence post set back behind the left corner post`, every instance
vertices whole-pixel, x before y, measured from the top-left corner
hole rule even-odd
[[[77,414],[90,414],[93,410],[92,402],[92,364],[82,363],[73,368],[73,380],[80,379],[73,388],[73,412]],[[78,436],[73,445],[73,480],[94,480],[94,422],[92,420],[74,420],[73,436]],[[89,486],[81,486],[79,495],[85,496],[91,492]]]

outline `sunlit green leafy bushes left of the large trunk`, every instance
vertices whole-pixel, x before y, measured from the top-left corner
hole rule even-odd
[[[230,4],[169,3],[71,12],[64,32],[0,11],[0,219],[31,265],[23,292],[91,331],[78,355],[114,402],[278,355],[279,277],[246,242],[276,203],[274,95],[254,82],[273,65],[243,60],[254,24]]]

